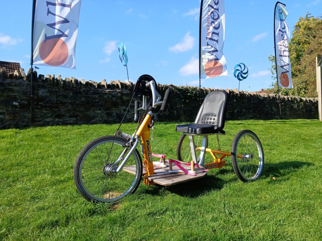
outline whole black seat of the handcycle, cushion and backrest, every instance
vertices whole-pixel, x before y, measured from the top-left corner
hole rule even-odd
[[[204,98],[194,123],[177,125],[176,131],[195,135],[225,134],[227,93],[212,91]]]

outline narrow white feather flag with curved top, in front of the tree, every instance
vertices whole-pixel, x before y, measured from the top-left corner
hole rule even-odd
[[[289,26],[286,22],[288,13],[285,7],[286,5],[280,2],[277,2],[275,5],[274,40],[276,75],[279,86],[292,89],[292,71],[289,58]]]

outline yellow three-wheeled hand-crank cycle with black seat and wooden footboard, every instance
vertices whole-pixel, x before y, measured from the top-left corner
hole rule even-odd
[[[78,155],[74,166],[74,181],[77,190],[87,200],[93,202],[116,203],[134,193],[141,180],[147,185],[175,185],[202,178],[212,168],[222,168],[226,156],[232,157],[232,166],[238,178],[251,182],[260,178],[264,168],[264,152],[259,138],[251,130],[242,130],[234,138],[231,152],[220,149],[219,135],[225,135],[225,110],[227,93],[212,91],[204,99],[194,123],[177,125],[182,132],[177,146],[178,160],[167,160],[165,155],[155,155],[151,151],[150,129],[156,108],[164,111],[170,89],[164,99],[156,90],[152,76],[138,78],[134,92],[143,95],[142,107],[135,102],[137,129],[132,135],[118,130],[114,136],[103,136],[88,143]],[[147,97],[152,104],[147,108]],[[145,113],[139,118],[139,111]],[[208,136],[217,135],[218,149],[208,148]],[[202,145],[195,145],[194,138],[202,137]],[[141,146],[143,161],[138,146]],[[198,156],[197,157],[197,153]],[[204,163],[205,155],[213,161]],[[152,156],[160,157],[153,162]],[[143,168],[144,164],[144,168]]]

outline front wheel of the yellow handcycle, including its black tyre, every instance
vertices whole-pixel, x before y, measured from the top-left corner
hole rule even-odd
[[[120,172],[108,171],[119,157],[124,158],[131,149],[125,146],[126,143],[124,138],[104,136],[91,141],[81,150],[74,166],[74,182],[87,201],[116,203],[137,190],[143,170],[137,150]],[[131,166],[133,174],[124,171],[128,166]]]

